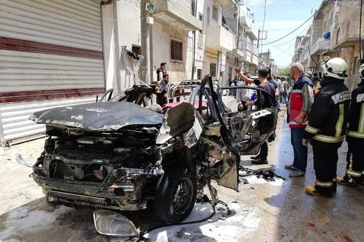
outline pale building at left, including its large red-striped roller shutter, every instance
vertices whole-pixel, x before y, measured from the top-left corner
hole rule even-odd
[[[173,80],[191,77],[191,30],[201,21],[188,0],[154,0],[150,27],[151,72],[167,62]],[[120,47],[142,46],[139,0],[0,1],[0,143],[31,139],[45,131],[33,112],[96,100],[134,84]],[[141,24],[142,23],[142,24]],[[149,22],[151,23],[151,22]],[[143,33],[144,34],[144,33]]]

